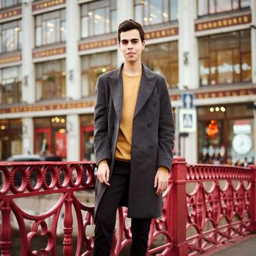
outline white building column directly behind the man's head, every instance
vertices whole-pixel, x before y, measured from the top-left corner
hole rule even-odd
[[[116,1],[116,12],[117,12],[117,26],[124,20],[133,19],[133,1]],[[124,62],[124,57],[122,56],[119,48],[117,50],[117,66]]]

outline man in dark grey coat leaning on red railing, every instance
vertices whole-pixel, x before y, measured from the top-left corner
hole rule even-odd
[[[174,124],[165,78],[141,63],[144,31],[118,27],[124,64],[97,81],[94,110],[94,256],[110,255],[118,206],[132,218],[131,255],[146,255],[151,219],[162,214],[173,157]]]

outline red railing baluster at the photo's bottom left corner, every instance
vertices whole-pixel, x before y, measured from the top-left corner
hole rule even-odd
[[[1,236],[0,236],[1,256],[11,255],[12,228],[10,224],[10,214],[11,214],[10,202],[7,199],[4,202],[4,206],[1,206]]]

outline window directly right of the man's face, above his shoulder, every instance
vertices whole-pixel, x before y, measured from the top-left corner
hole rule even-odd
[[[162,74],[169,88],[178,85],[178,42],[164,42],[156,45],[146,45],[142,61],[154,72]]]

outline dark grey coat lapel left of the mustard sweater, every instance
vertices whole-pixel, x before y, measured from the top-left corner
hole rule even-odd
[[[114,72],[107,78],[110,86],[110,94],[113,99],[113,105],[116,110],[116,116],[121,122],[122,109],[123,109],[123,79],[121,70],[123,65],[115,69]]]

